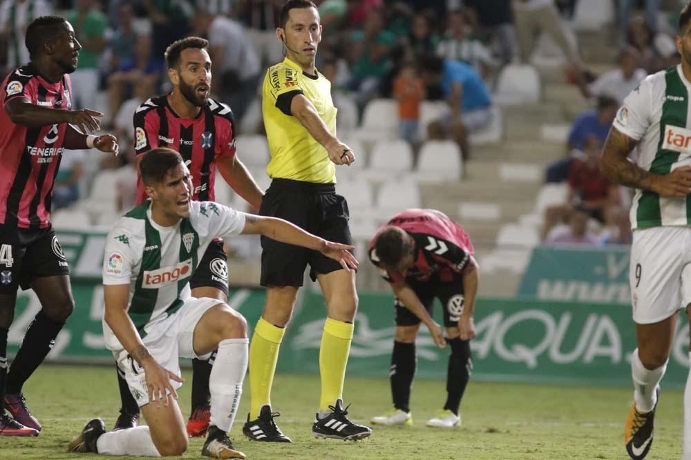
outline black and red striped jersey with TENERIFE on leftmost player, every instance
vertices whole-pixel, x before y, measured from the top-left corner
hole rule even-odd
[[[37,106],[70,110],[72,86],[65,74],[49,81],[29,64],[15,69],[0,88],[0,223],[19,228],[50,225],[50,201],[64,151],[67,123],[29,128],[12,123],[5,109],[23,97]]]

